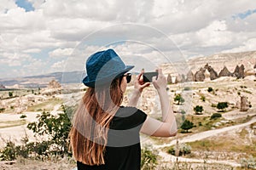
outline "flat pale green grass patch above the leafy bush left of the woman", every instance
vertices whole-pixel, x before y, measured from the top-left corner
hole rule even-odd
[[[27,111],[52,111],[55,105],[61,105],[63,101],[61,99],[48,99],[38,105],[32,105],[27,108]]]

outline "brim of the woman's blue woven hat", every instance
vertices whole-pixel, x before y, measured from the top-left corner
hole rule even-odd
[[[131,69],[134,67],[134,65],[125,65],[125,69],[122,71],[118,71],[113,73],[111,76],[108,77],[104,77],[104,78],[97,78],[96,80],[89,80],[89,77],[86,76],[83,79],[83,83],[85,86],[87,87],[91,87],[94,88],[95,86],[101,86],[104,84],[108,84],[109,82],[112,82],[114,78],[120,77],[123,74],[125,74],[125,72],[131,71]]]

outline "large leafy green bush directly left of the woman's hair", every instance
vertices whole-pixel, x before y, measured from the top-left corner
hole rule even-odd
[[[32,130],[35,136],[47,135],[48,140],[38,143],[38,154],[49,155],[46,150],[50,148],[50,154],[64,156],[68,154],[68,133],[72,126],[68,115],[72,113],[71,108],[63,106],[64,113],[57,116],[51,115],[49,112],[43,112],[38,116],[38,122],[30,122],[27,128]]]

